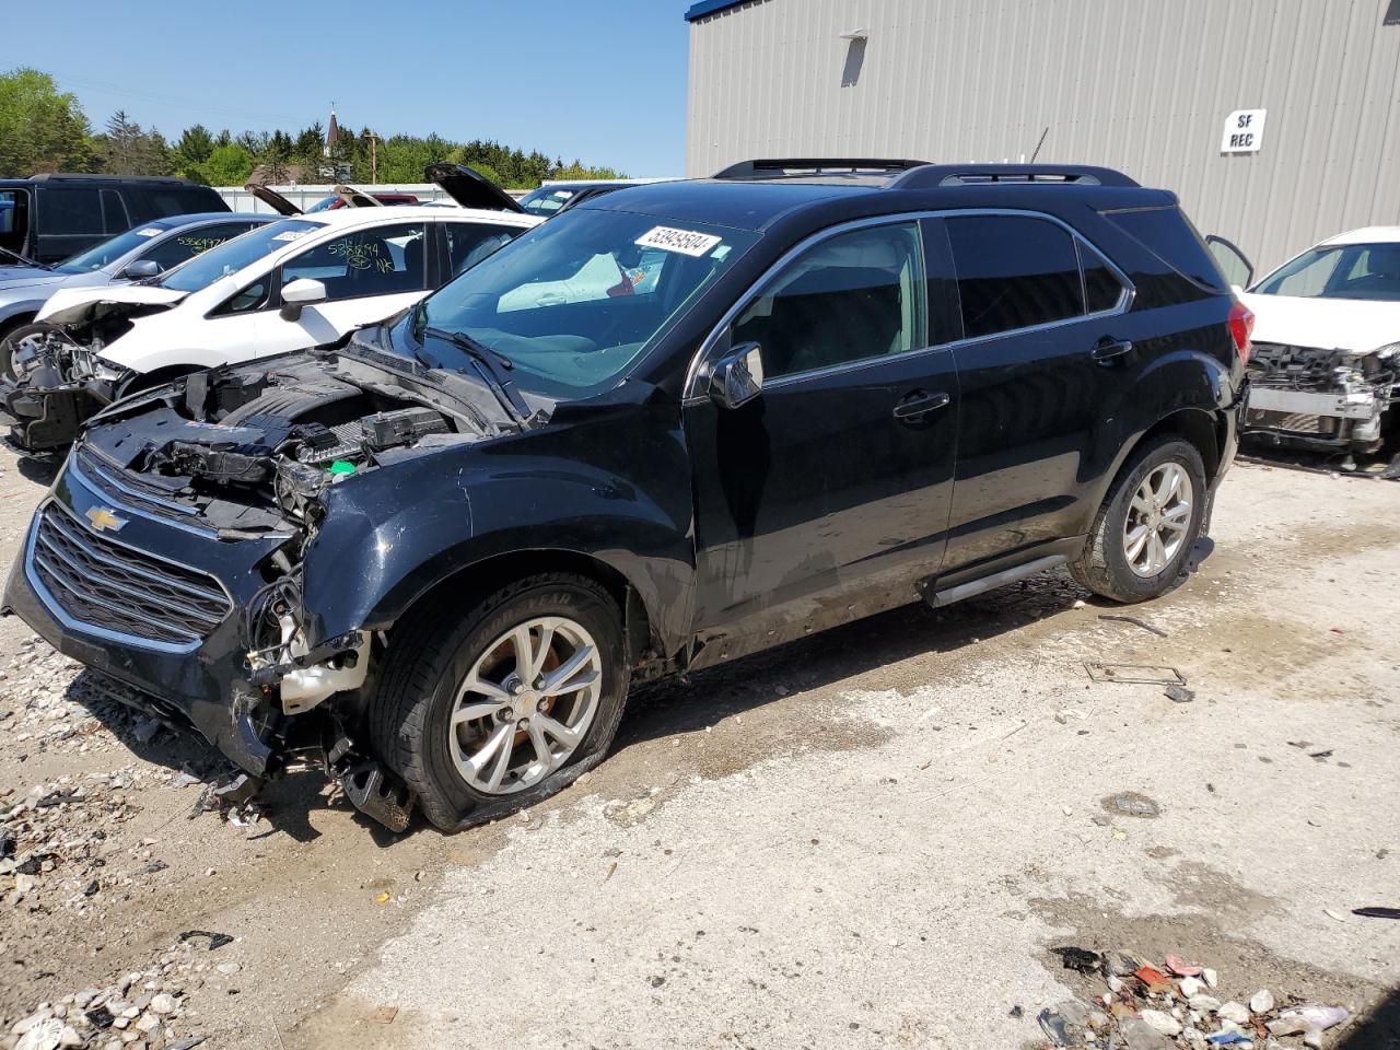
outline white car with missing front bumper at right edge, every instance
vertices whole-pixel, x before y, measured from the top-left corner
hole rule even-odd
[[[1210,239],[1226,273],[1239,267],[1238,251],[1222,258],[1225,242]],[[1254,314],[1246,437],[1334,452],[1393,441],[1400,227],[1330,237],[1236,294]]]

